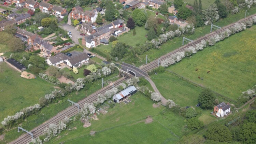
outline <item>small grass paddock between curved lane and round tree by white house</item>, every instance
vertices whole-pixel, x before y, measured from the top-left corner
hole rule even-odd
[[[150,76],[155,83],[161,95],[166,99],[173,100],[181,106],[195,106],[198,102],[198,95],[202,91],[181,78],[169,73],[163,72]]]

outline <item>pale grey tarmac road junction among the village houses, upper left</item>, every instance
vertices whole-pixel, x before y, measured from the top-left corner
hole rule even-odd
[[[79,44],[78,39],[84,37],[83,35],[80,35],[81,32],[77,30],[78,26],[74,27],[69,24],[62,24],[62,25],[59,25],[59,27],[65,29],[67,31],[70,31],[72,33],[71,39],[75,44]]]

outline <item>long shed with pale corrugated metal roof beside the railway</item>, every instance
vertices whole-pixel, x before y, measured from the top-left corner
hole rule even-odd
[[[126,89],[124,89],[121,92],[114,95],[113,101],[119,103],[119,102],[127,99],[129,96],[133,95],[136,92],[137,92],[137,89],[134,86],[129,86]]]

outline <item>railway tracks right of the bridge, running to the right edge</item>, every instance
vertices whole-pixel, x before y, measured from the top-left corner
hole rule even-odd
[[[244,21],[246,21],[246,20],[252,18],[253,16],[256,16],[256,14],[251,15],[251,16],[249,16],[249,17],[246,17],[246,18],[244,18],[244,19],[241,19],[241,20],[239,20],[239,21],[237,21],[237,22],[235,22],[235,23],[232,23],[232,24],[230,24],[230,25],[228,25],[228,26],[225,26],[225,27],[223,27],[223,28],[221,28],[221,29],[219,29],[219,30],[217,30],[217,31],[214,31],[214,32],[212,32],[212,33],[209,33],[209,34],[207,34],[207,35],[204,35],[203,37],[200,37],[200,38],[198,38],[197,40],[195,40],[195,41],[193,41],[193,42],[190,42],[190,43],[188,43],[188,44],[186,44],[186,45],[184,45],[184,46],[182,46],[182,47],[180,47],[180,48],[178,48],[178,49],[175,49],[174,51],[172,51],[172,52],[170,52],[170,53],[168,53],[168,54],[166,54],[166,55],[161,56],[161,57],[160,57],[160,61],[162,61],[162,60],[164,60],[164,59],[166,59],[166,58],[169,58],[169,57],[170,57],[172,54],[174,54],[174,53],[183,51],[185,48],[187,48],[187,47],[189,47],[189,46],[195,46],[196,44],[200,43],[201,40],[210,39],[213,35],[215,35],[215,34],[217,34],[217,33],[220,33],[220,32],[222,32],[222,31],[225,31],[226,29],[228,29],[228,28],[234,26],[236,23],[242,23],[242,22],[244,22]],[[154,68],[156,68],[156,67],[158,67],[158,59],[157,59],[157,60],[154,60],[154,61],[152,61],[152,62],[150,62],[150,63],[148,63],[148,64],[145,64],[145,65],[142,66],[140,69],[141,69],[142,71],[144,71],[144,72],[148,72],[148,71],[150,71],[151,69],[154,69]]]

